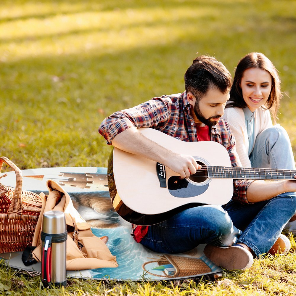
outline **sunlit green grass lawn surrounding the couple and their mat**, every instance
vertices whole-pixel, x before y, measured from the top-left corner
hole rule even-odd
[[[266,54],[280,72],[279,123],[296,152],[295,11],[295,0],[2,0],[1,155],[21,169],[107,166],[110,147],[97,132],[106,116],[182,92],[197,52],[234,73],[252,51]],[[295,295],[295,256],[294,245],[289,255],[258,259],[245,273],[225,271],[218,283],[70,279],[63,293]],[[0,271],[0,294],[62,293],[41,290],[39,278]]]

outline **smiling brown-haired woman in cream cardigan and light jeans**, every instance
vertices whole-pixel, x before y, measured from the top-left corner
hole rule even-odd
[[[264,54],[252,52],[239,61],[223,118],[234,134],[243,167],[295,170],[289,136],[271,121],[271,114],[276,121],[281,97],[278,72]],[[280,238],[286,253],[289,240],[282,234]]]

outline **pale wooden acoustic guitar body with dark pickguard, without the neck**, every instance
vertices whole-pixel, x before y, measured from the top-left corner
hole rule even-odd
[[[173,152],[192,155],[203,167],[231,166],[227,150],[216,142],[184,142],[151,128],[139,131]],[[223,205],[233,194],[233,179],[181,179],[162,164],[116,147],[109,158],[108,186],[117,213],[137,225],[157,224],[200,204]]]

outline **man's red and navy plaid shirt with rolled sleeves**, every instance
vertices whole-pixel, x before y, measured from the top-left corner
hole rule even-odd
[[[136,107],[113,113],[101,123],[99,133],[104,136],[109,145],[118,133],[133,126],[155,128],[182,141],[196,142],[198,141],[197,130],[190,115],[190,108],[185,91],[182,94],[155,97]],[[227,149],[232,166],[241,166],[235,149],[234,136],[225,120],[221,118],[211,128],[210,139]],[[232,199],[248,203],[246,193],[252,182],[251,180],[234,180]]]

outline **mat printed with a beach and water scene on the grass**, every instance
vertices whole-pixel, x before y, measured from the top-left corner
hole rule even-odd
[[[43,168],[23,170],[22,174],[23,190],[47,194],[45,182],[48,179],[65,186],[82,218],[91,225],[93,233],[103,239],[112,255],[117,257],[118,268],[67,271],[69,276],[137,281],[189,278],[221,271],[203,254],[205,245],[186,253],[171,255],[152,252],[136,243],[130,235],[130,223],[123,220],[112,207],[107,168]],[[4,185],[15,187],[14,172],[9,172],[1,181]],[[20,257],[14,261],[11,259],[11,266],[20,267],[21,264],[17,264]],[[27,269],[38,270],[38,264],[28,266]]]

